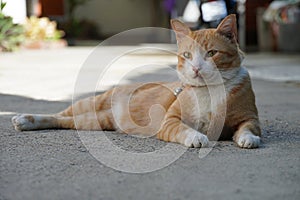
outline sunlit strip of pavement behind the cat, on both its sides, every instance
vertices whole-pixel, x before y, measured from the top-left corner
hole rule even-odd
[[[27,50],[0,54],[0,91],[35,99],[72,98],[79,76],[86,78],[86,91],[105,90],[134,81],[176,80],[175,47],[113,46]],[[253,79],[300,82],[300,54],[248,54],[244,61]],[[172,68],[173,67],[173,68]],[[160,71],[165,69],[165,73]],[[170,73],[167,73],[167,72]],[[148,79],[146,74],[156,74]],[[89,83],[91,75],[97,83]],[[144,75],[144,76],[143,76]],[[139,76],[141,77],[139,79]],[[127,80],[126,80],[127,79]]]

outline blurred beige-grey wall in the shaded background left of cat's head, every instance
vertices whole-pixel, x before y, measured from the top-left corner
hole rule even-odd
[[[92,0],[78,7],[76,15],[94,21],[102,34],[151,26],[151,0]]]

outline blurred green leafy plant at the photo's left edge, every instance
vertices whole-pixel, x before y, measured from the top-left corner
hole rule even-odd
[[[24,28],[14,24],[12,17],[5,16],[3,9],[5,2],[0,2],[0,51],[14,51],[24,40]]]

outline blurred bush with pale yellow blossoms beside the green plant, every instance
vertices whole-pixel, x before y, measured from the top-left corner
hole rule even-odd
[[[26,19],[24,24],[26,39],[38,40],[59,40],[63,35],[63,31],[56,29],[56,22],[50,21],[47,17],[37,18],[31,16]]]

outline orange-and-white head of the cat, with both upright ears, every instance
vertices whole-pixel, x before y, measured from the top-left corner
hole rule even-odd
[[[191,31],[179,20],[171,20],[171,25],[178,45],[177,71],[184,84],[203,86],[236,75],[243,53],[237,43],[235,15],[227,16],[216,29]]]

